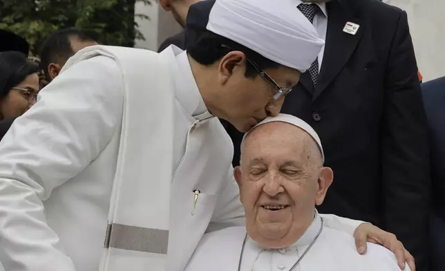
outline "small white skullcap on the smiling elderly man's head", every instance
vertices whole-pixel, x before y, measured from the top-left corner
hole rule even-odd
[[[323,147],[321,146],[321,140],[319,138],[319,135],[304,120],[301,120],[300,118],[296,118],[293,115],[279,114],[276,117],[267,117],[267,118],[265,118],[265,120],[263,120],[262,122],[259,122],[252,129],[250,129],[250,131],[245,133],[245,135],[243,137],[243,141],[241,142],[241,148],[243,148],[243,146],[245,144],[245,140],[246,140],[247,136],[249,135],[249,133],[251,131],[253,131],[258,126],[261,126],[261,125],[269,123],[269,122],[285,122],[285,123],[289,123],[289,124],[292,124],[292,125],[294,125],[296,127],[299,127],[300,129],[302,129],[303,131],[308,133],[315,140],[316,144],[319,145],[319,150],[320,150],[320,153],[321,153],[321,161],[323,163],[325,162],[325,153],[323,152]]]

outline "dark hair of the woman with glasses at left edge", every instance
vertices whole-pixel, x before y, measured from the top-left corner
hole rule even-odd
[[[0,53],[0,98],[6,97],[11,88],[37,71],[39,65],[28,60],[23,53],[13,51]]]

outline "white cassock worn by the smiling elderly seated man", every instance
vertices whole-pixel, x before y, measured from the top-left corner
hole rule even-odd
[[[316,214],[299,241],[279,250],[265,249],[247,239],[240,270],[290,271],[314,241],[320,227],[321,216]],[[238,270],[245,234],[245,227],[229,227],[205,234],[185,271]],[[410,270],[408,265],[406,270]],[[324,223],[319,238],[293,271],[400,271],[400,268],[394,254],[385,247],[368,243],[368,252],[362,256],[350,234]]]

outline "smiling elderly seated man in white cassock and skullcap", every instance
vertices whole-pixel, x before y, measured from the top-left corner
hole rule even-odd
[[[234,170],[246,225],[205,234],[185,271],[400,270],[380,245],[357,254],[352,236],[316,211],[334,176],[323,161],[320,138],[303,120],[280,114],[256,124]]]

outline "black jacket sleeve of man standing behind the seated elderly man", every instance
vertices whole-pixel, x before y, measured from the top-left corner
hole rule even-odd
[[[426,115],[406,12],[401,12],[384,80],[381,130],[384,223],[428,270],[430,172]]]

